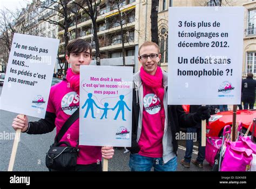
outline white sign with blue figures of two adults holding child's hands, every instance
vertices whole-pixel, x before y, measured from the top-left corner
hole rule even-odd
[[[131,146],[132,69],[80,66],[79,145]]]

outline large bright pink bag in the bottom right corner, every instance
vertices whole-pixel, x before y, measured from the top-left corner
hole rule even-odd
[[[238,141],[226,141],[226,151],[220,171],[246,171],[256,153],[256,144],[250,137],[240,137]]]

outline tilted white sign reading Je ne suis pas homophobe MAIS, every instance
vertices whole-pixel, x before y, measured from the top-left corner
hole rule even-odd
[[[14,34],[1,109],[44,118],[59,39]]]

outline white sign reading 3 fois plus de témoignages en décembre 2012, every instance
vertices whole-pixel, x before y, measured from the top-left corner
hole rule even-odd
[[[244,8],[169,8],[168,104],[240,104]]]

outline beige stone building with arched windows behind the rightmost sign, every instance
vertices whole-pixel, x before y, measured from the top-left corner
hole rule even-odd
[[[150,11],[151,3],[148,0],[142,0],[143,11],[140,11],[140,26],[144,31],[139,37],[139,45],[145,40],[151,40],[151,21]],[[215,0],[220,5],[219,0]],[[169,6],[215,6],[213,0],[159,0],[158,13],[158,35],[159,47],[162,54],[160,60],[161,66],[167,71],[168,65],[168,8]],[[244,48],[242,52],[242,75],[247,72],[256,73],[256,1],[254,0],[227,0],[222,1],[221,6],[244,6]],[[255,24],[254,24],[255,23]],[[140,66],[140,65],[139,65]]]

